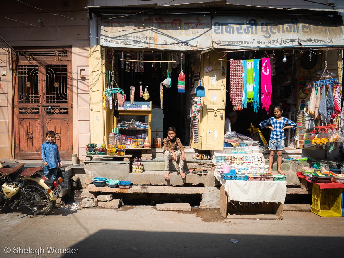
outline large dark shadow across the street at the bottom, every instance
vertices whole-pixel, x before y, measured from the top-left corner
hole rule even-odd
[[[239,243],[231,243],[231,239]],[[80,257],[338,257],[338,243],[343,240],[344,237],[99,230],[70,248],[78,248],[76,256]]]

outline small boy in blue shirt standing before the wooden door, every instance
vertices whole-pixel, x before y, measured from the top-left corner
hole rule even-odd
[[[62,167],[60,153],[54,142],[55,132],[46,132],[46,142],[42,144],[42,158],[44,162],[44,173],[46,178],[56,179],[57,169]]]

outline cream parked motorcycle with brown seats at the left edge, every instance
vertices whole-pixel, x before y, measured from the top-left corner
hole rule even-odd
[[[0,204],[24,207],[35,215],[49,214],[62,191],[63,178],[47,179],[39,174],[43,166],[23,169],[24,163],[3,168],[0,163]]]

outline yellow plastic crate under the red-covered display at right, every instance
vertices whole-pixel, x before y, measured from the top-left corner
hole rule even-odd
[[[311,212],[320,217],[341,217],[343,189],[320,189],[318,184],[312,185]]]

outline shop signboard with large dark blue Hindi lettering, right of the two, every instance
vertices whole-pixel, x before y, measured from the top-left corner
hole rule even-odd
[[[216,16],[212,21],[213,46],[223,49],[342,46],[343,32],[341,17]]]

